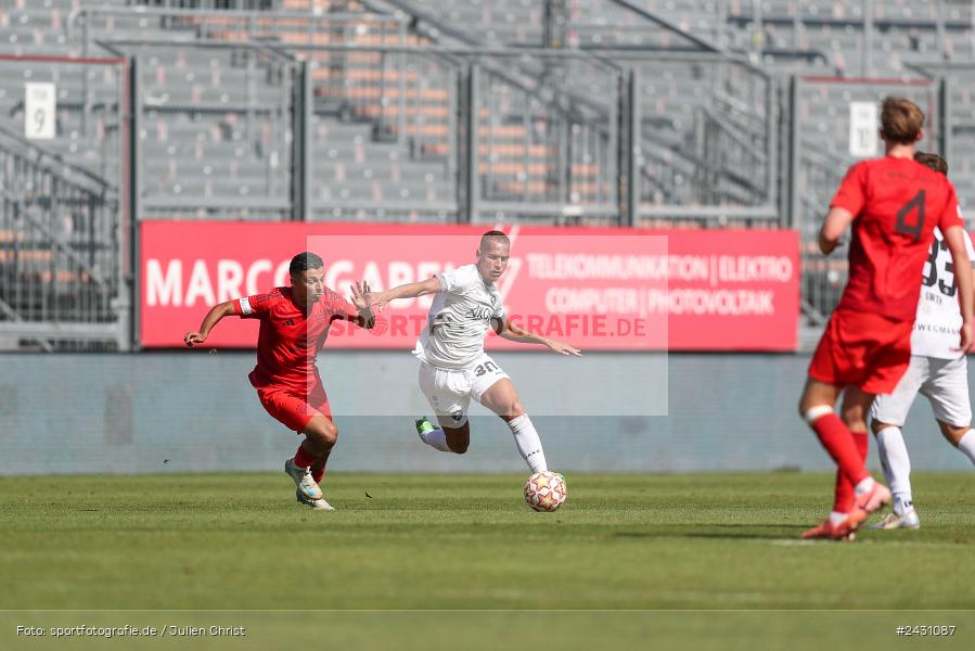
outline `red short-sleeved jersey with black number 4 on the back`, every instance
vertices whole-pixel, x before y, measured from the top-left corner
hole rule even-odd
[[[913,321],[934,228],[963,226],[954,187],[913,159],[885,156],[850,167],[831,207],[854,215],[849,280],[838,308]]]

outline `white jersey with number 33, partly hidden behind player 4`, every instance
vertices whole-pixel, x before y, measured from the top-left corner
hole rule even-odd
[[[975,261],[972,239],[965,232],[965,248],[968,258]],[[958,304],[958,288],[954,284],[954,266],[951,252],[940,229],[935,228],[935,241],[931,255],[924,263],[924,278],[921,281],[921,299],[918,301],[918,316],[911,333],[911,355],[937,359],[958,359],[958,348],[962,315]]]

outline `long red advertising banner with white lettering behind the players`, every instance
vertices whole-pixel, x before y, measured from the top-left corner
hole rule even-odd
[[[425,280],[475,261],[485,227],[144,221],[142,346],[181,346],[215,304],[290,284],[291,258],[319,254],[325,284],[349,295]],[[498,281],[509,319],[585,350],[794,350],[799,314],[794,231],[503,229]],[[335,322],[328,347],[410,349],[432,296],[390,303],[372,331]],[[253,347],[258,323],[227,318],[211,347]],[[524,347],[490,335],[487,347]]]

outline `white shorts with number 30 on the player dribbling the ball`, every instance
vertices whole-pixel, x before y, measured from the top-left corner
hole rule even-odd
[[[456,427],[467,422],[471,398],[479,403],[484,393],[504,378],[508,373],[487,355],[482,355],[466,369],[444,369],[420,362],[420,390],[434,413],[450,417],[457,423]]]

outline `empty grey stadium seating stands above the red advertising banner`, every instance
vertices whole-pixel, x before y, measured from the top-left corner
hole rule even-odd
[[[231,5],[245,13],[215,11]],[[640,80],[642,225],[747,225],[720,213],[665,215],[672,206],[762,208],[777,184],[793,183],[799,214],[782,222],[811,242],[829,193],[854,159],[849,103],[910,97],[939,137],[945,125],[931,80],[944,76],[951,176],[962,206],[975,205],[971,2],[874,2],[870,38],[861,3],[842,0],[563,0],[548,8],[547,15],[547,3],[536,0],[8,0],[0,53],[25,59],[0,65],[0,115],[20,129],[24,84],[54,82],[55,137],[34,149],[117,192],[125,173],[123,69],[29,58],[134,55],[140,217],[290,219],[302,153],[296,71],[307,62],[304,218],[452,221],[467,199],[459,179],[470,168],[475,219],[605,224],[618,219],[617,99],[621,71],[632,69]],[[362,50],[326,49],[343,44]],[[369,50],[401,44],[509,52]],[[539,55],[535,49],[546,44],[586,52]],[[655,50],[671,56],[646,54]],[[693,59],[680,60],[689,51]],[[465,113],[471,63],[478,67],[478,104]],[[778,168],[769,151],[788,142],[790,125],[775,119],[787,117],[787,95],[774,91],[784,91],[792,74],[801,77],[794,125],[800,162],[788,179],[777,177],[784,146]],[[863,75],[883,81],[856,82]],[[465,115],[476,129],[471,158]],[[934,140],[922,145],[933,149]],[[64,200],[59,219],[74,215],[75,201]],[[35,253],[42,261],[43,252]],[[807,314],[825,314],[845,268],[807,253]],[[70,288],[79,271],[68,266],[54,277]]]

